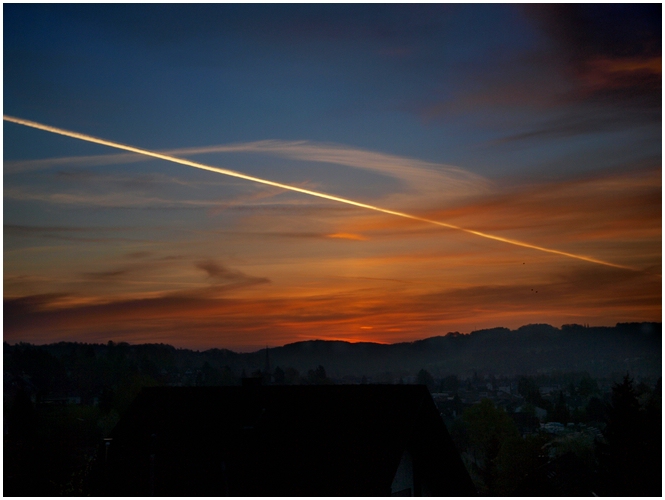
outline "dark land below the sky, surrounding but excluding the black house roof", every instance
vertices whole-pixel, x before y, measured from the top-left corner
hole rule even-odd
[[[102,491],[108,485],[95,474],[100,461],[106,463],[107,448],[99,443],[143,388],[239,390],[249,374],[269,386],[424,384],[484,496],[660,496],[661,346],[661,325],[651,323],[561,330],[532,325],[393,346],[310,341],[247,354],[111,341],[5,343],[3,493]],[[542,363],[543,371],[529,375],[527,358],[532,369]],[[499,365],[507,371],[490,370]],[[362,371],[345,371],[354,366]],[[471,366],[478,371],[463,376],[461,366],[462,372]],[[566,366],[575,370],[560,371]],[[585,366],[595,368],[580,370]],[[515,371],[520,374],[510,375]],[[624,377],[627,372],[631,377]],[[157,434],[155,439],[159,444]],[[411,463],[413,492],[425,491],[419,459],[402,457],[397,469],[404,472]],[[229,484],[230,472],[225,474]],[[393,492],[398,485],[389,486]]]

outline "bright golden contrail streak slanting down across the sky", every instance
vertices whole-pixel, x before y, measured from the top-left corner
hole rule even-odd
[[[242,174],[240,172],[235,172],[233,170],[228,170],[228,169],[225,169],[225,168],[211,167],[209,165],[204,165],[203,163],[197,163],[197,162],[185,160],[185,159],[182,159],[182,158],[177,158],[175,156],[165,155],[165,154],[162,154],[162,153],[156,153],[154,151],[149,151],[147,149],[136,148],[134,146],[127,146],[125,144],[120,144],[120,143],[113,142],[113,141],[107,141],[106,139],[100,139],[98,137],[93,137],[93,136],[86,135],[86,134],[80,134],[78,132],[71,132],[69,130],[63,130],[61,128],[51,127],[49,125],[43,125],[41,123],[33,122],[33,121],[30,121],[30,120],[24,120],[22,118],[14,118],[12,116],[7,116],[7,115],[3,115],[2,118],[3,118],[3,120],[8,121],[8,122],[18,123],[19,125],[25,125],[26,127],[32,127],[32,128],[36,128],[36,129],[39,129],[39,130],[45,130],[46,132],[51,132],[53,134],[64,135],[66,137],[73,137],[74,139],[79,139],[79,140],[86,141],[86,142],[93,142],[95,144],[101,144],[103,146],[109,146],[109,147],[115,148],[115,149],[122,149],[124,151],[130,151],[132,153],[137,153],[137,154],[140,154],[140,155],[152,156],[153,158],[159,158],[160,160],[166,160],[166,161],[170,161],[170,162],[173,162],[173,163],[179,163],[181,165],[187,165],[188,167],[200,168],[201,170],[208,170],[210,172],[216,172],[218,174],[228,175],[228,176],[231,176],[231,177],[237,177],[239,179],[245,179],[245,180],[252,181],[252,182],[258,182],[259,184],[274,186],[274,187],[278,187],[278,188],[281,188],[281,189],[286,189],[288,191],[295,191],[297,193],[308,194],[310,196],[316,196],[317,198],[323,198],[323,199],[326,199],[326,200],[337,201],[339,203],[345,203],[347,205],[353,205],[353,206],[360,207],[360,208],[366,208],[368,210],[374,210],[375,212],[381,212],[381,213],[389,214],[389,215],[396,215],[398,217],[403,217],[405,219],[416,220],[416,221],[419,221],[419,222],[427,222],[428,224],[434,224],[436,226],[441,226],[441,227],[445,227],[445,228],[448,228],[448,229],[455,229],[457,231],[463,231],[465,233],[473,234],[475,236],[480,236],[481,238],[487,238],[489,240],[500,241],[502,243],[508,243],[510,245],[515,245],[515,246],[518,246],[518,247],[531,248],[532,250],[539,250],[541,252],[552,253],[552,254],[555,254],[555,255],[562,255],[564,257],[570,257],[571,259],[583,260],[583,261],[586,261],[586,262],[593,262],[594,264],[601,264],[603,266],[616,267],[616,268],[619,268],[619,269],[630,269],[632,271],[636,270],[636,269],[633,269],[632,267],[622,266],[622,265],[619,265],[619,264],[613,264],[611,262],[606,262],[604,260],[594,259],[593,257],[586,257],[584,255],[577,255],[577,254],[574,254],[574,253],[562,252],[560,250],[554,250],[552,248],[539,247],[537,245],[531,245],[530,243],[525,243],[523,241],[512,240],[512,239],[509,239],[509,238],[503,238],[501,236],[494,236],[494,235],[491,235],[491,234],[482,233],[480,231],[474,231],[473,229],[466,229],[466,228],[463,228],[463,227],[460,227],[460,226],[455,226],[453,224],[447,224],[445,222],[439,222],[439,221],[432,220],[432,219],[425,219],[424,217],[418,217],[416,215],[411,215],[411,214],[407,214],[407,213],[404,213],[404,212],[397,212],[395,210],[389,210],[387,208],[381,208],[381,207],[376,207],[374,205],[368,205],[366,203],[361,203],[359,201],[349,200],[347,198],[342,198],[340,196],[335,196],[335,195],[326,194],[326,193],[320,193],[318,191],[311,191],[309,189],[299,188],[299,187],[296,187],[296,186],[290,186],[288,184],[282,184],[281,182],[275,182],[275,181],[270,181],[270,180],[267,180],[267,179],[261,179],[260,177],[254,177],[252,175]]]

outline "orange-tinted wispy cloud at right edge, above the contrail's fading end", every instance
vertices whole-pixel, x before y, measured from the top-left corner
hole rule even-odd
[[[462,223],[472,218],[474,227],[488,231],[528,229],[559,239],[613,230],[617,239],[630,241],[644,231],[658,236],[661,190],[660,170],[641,168],[507,188],[438,216]]]

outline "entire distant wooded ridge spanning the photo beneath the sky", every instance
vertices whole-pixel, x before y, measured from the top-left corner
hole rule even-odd
[[[65,360],[72,350],[87,349],[109,356],[107,345],[60,342],[39,349]],[[20,344],[5,343],[5,360]],[[236,353],[227,349],[192,351],[164,344],[116,344],[127,359],[143,369],[158,373],[164,367],[199,369],[208,364],[239,376],[262,370],[266,350]],[[92,354],[94,356],[94,353]],[[415,342],[398,344],[350,343],[311,340],[270,348],[270,367],[295,368],[301,374],[321,365],[329,377],[408,377],[420,369],[434,377],[475,374],[514,376],[554,372],[588,372],[593,377],[610,377],[630,371],[633,376],[659,377],[662,372],[662,323],[620,323],[614,327],[526,325],[517,330],[493,328],[470,334],[449,333]],[[385,378],[388,378],[387,375]]]

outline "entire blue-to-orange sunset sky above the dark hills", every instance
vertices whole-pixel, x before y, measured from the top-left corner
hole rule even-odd
[[[4,115],[415,217],[5,120],[4,340],[661,321],[661,19],[4,4]]]

